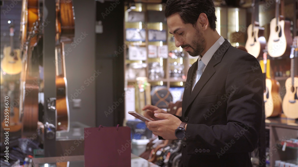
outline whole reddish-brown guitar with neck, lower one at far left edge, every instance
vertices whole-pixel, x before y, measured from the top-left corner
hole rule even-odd
[[[15,99],[15,85],[14,83],[9,84],[9,91],[7,93],[7,96],[9,97],[10,106],[6,109],[4,109],[4,114],[9,115],[9,117],[5,117],[2,121],[1,125],[2,128],[9,128],[11,132],[16,132],[21,130],[22,124],[19,122],[19,109],[18,107],[12,106],[12,101]],[[11,107],[12,106],[12,107]],[[7,125],[8,126],[5,126]]]

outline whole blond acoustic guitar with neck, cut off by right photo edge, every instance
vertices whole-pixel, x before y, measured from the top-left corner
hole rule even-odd
[[[294,56],[295,55],[295,56]],[[286,117],[298,118],[298,77],[295,77],[295,57],[298,56],[297,36],[294,37],[291,49],[291,77],[285,81],[285,97],[283,98],[283,113]]]

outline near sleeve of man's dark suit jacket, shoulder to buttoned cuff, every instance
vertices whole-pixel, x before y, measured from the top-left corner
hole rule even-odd
[[[187,124],[187,154],[196,154],[195,146],[210,150],[200,154],[217,154],[222,149],[225,152],[252,152],[257,144],[263,104],[262,70],[252,55],[235,56],[225,85],[226,92],[231,88],[235,88],[235,92],[227,99],[226,111],[216,111],[226,112],[227,123],[212,126]]]

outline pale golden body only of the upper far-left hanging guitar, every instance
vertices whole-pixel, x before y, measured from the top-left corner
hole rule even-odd
[[[10,53],[11,53],[11,47],[4,46],[4,49],[3,49],[4,58],[1,61],[1,68],[7,74],[11,74],[11,75],[18,74],[22,70],[22,60],[20,58],[21,50],[14,49],[13,56],[11,56]]]

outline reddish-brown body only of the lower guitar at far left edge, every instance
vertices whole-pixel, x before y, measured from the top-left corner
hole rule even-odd
[[[17,132],[19,130],[21,130],[22,128],[22,124],[19,122],[18,117],[19,117],[19,109],[17,107],[13,108],[13,113],[14,116],[12,116],[11,113],[11,108],[8,107],[9,110],[9,126],[5,126],[5,118],[3,120],[3,122],[1,123],[2,128],[10,128],[10,132]],[[5,111],[4,111],[5,112]]]

